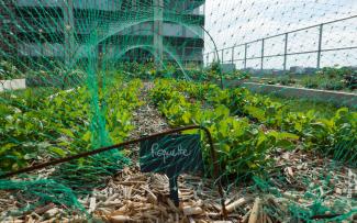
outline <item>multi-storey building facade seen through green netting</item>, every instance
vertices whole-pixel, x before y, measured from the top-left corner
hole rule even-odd
[[[4,0],[1,57],[202,64],[204,0]]]

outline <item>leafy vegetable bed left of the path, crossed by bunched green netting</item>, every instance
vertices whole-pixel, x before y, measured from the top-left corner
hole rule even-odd
[[[140,80],[109,81],[105,90],[26,89],[0,96],[0,171],[122,142],[142,102]],[[57,90],[58,91],[58,90]],[[96,91],[96,92],[94,92]],[[53,94],[51,94],[53,93]]]

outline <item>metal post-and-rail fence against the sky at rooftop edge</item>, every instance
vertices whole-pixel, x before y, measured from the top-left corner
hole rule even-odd
[[[353,23],[353,26],[350,27],[347,25],[343,25],[341,30],[346,32],[346,29],[349,29],[352,32],[355,32],[355,35],[354,34],[352,34],[350,36],[342,35],[338,40],[334,41],[334,40],[332,40],[333,38],[332,35],[327,36],[326,32],[324,32],[324,30],[328,29],[327,26],[330,26],[330,34],[333,32],[335,32],[335,35],[338,35],[338,33],[344,34],[344,32],[334,31],[334,29],[336,30],[336,25],[335,25],[336,23],[345,24],[346,21],[350,21]],[[312,25],[312,26],[308,26],[308,27],[303,27],[303,29],[298,29],[298,30],[289,31],[289,32],[272,35],[272,36],[267,36],[267,37],[255,40],[255,41],[247,42],[244,44],[221,48],[217,51],[219,58],[216,58],[217,57],[216,52],[211,52],[211,53],[204,54],[203,55],[204,64],[210,65],[211,63],[219,60],[222,64],[227,64],[227,63],[235,64],[238,69],[247,69],[250,67],[250,66],[248,66],[248,63],[255,60],[256,66],[254,66],[254,67],[258,67],[258,70],[260,70],[260,73],[263,74],[264,69],[269,67],[269,66],[266,66],[266,64],[269,63],[269,60],[280,58],[280,59],[278,59],[278,62],[272,63],[275,65],[270,66],[269,68],[270,69],[272,67],[277,68],[277,64],[279,64],[279,60],[280,60],[282,63],[281,71],[286,73],[288,69],[289,57],[295,56],[295,55],[309,55],[308,58],[310,59],[310,64],[311,64],[311,59],[313,58],[312,55],[315,55],[315,59],[313,59],[313,60],[315,60],[314,62],[315,66],[312,66],[312,67],[319,69],[322,67],[321,60],[322,60],[323,53],[357,49],[357,45],[354,45],[354,44],[356,44],[354,41],[354,38],[356,38],[356,33],[357,33],[356,24],[357,24],[357,15],[353,15],[349,18],[334,20],[334,21],[330,21],[330,22],[325,22],[325,23],[321,23],[321,24],[316,24],[316,25]],[[299,33],[302,33],[302,32],[304,34],[310,34],[310,32],[315,32],[312,35],[312,40],[315,40],[315,41],[311,42],[311,46],[310,47],[308,46],[308,49],[305,47],[305,51],[291,51],[291,48],[289,48],[289,45],[293,44],[293,42],[294,42],[293,38],[297,38],[297,36],[299,36]],[[347,41],[350,37],[352,37],[352,40]],[[274,42],[274,41],[277,42],[277,40],[279,41],[279,38],[280,38],[281,44],[278,44],[278,45],[270,44],[270,46],[267,47],[268,42]],[[308,38],[302,41],[301,43],[306,44],[309,42]],[[338,47],[328,47],[328,45],[331,45],[331,42],[334,42],[335,45],[338,45]],[[324,43],[325,43],[325,45],[324,45]],[[278,46],[278,48],[277,48],[277,46]],[[250,48],[250,51],[253,49],[253,52],[255,52],[255,53],[253,53],[253,54],[252,54],[252,52],[249,53],[249,48]],[[299,48],[302,49],[304,47],[299,46]],[[277,53],[277,51],[279,51],[279,53]],[[352,64],[356,63],[355,65],[357,65],[357,56],[356,56],[357,51],[354,53],[350,53],[348,55],[355,55],[355,57],[354,57],[355,62],[352,62]],[[347,54],[345,53],[345,55],[341,59],[342,60],[347,59]]]

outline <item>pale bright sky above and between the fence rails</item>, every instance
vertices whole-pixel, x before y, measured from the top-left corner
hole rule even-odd
[[[357,0],[207,0],[205,29],[219,49],[263,37],[357,15]],[[288,53],[316,51],[320,27],[290,33]],[[213,52],[205,36],[204,52]],[[322,32],[322,49],[357,46],[357,18],[326,24]],[[285,52],[285,35],[265,41],[264,55]],[[223,52],[223,60],[244,58],[244,46]],[[261,41],[248,45],[247,57],[261,55]],[[222,60],[222,52],[220,52]],[[287,66],[316,66],[316,53],[288,56]],[[282,68],[283,57],[264,60],[265,68]],[[210,54],[209,60],[213,59]],[[228,62],[227,62],[228,63]],[[243,62],[235,62],[237,67]],[[357,66],[357,48],[322,53],[321,66]],[[260,68],[260,59],[248,59],[247,67]]]

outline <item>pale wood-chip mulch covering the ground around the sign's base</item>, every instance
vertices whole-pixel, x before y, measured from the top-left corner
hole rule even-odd
[[[252,183],[232,186],[226,191],[228,218],[225,221],[222,220],[220,196],[212,180],[181,176],[180,207],[177,208],[169,199],[167,177],[142,174],[135,166],[124,168],[105,188],[94,190],[79,202],[97,222],[299,222],[294,221],[292,212],[312,210],[316,201],[331,211],[315,215],[315,220],[326,220],[356,209],[357,188],[352,189],[348,185],[352,169],[341,167],[338,171],[332,171],[327,167],[334,165],[333,161],[317,158],[308,161],[308,157],[299,152],[285,153],[280,157],[281,175],[271,174],[271,179],[275,179],[271,182],[279,186],[259,189]],[[299,161],[301,157],[305,161]],[[324,178],[327,175],[332,176],[328,180]],[[356,216],[350,214],[345,222],[353,222]],[[88,218],[69,218],[68,211],[47,204],[25,216],[8,218],[3,222],[86,222]]]

